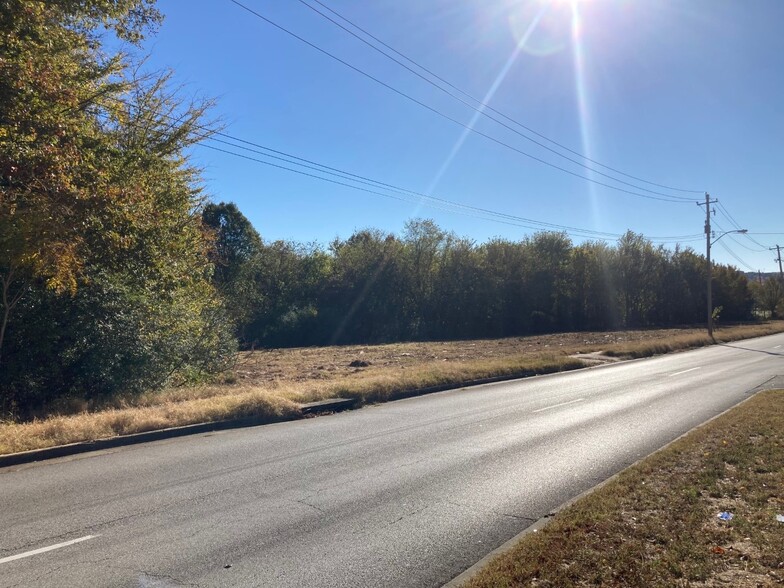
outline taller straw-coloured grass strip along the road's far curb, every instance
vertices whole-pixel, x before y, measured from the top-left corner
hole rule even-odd
[[[397,372],[360,370],[339,381],[285,382],[268,386],[203,386],[147,394],[133,404],[74,415],[51,416],[28,423],[0,424],[0,455],[155,429],[259,416],[270,421],[300,416],[301,403],[350,397],[361,403],[383,402],[427,388],[459,386],[473,380],[524,377],[582,367],[565,355],[545,354],[517,362],[483,361],[430,364]],[[126,402],[123,406],[122,403]]]

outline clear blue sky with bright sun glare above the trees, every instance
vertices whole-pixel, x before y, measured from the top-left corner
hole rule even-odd
[[[491,220],[476,210],[482,208],[610,235],[631,229],[661,237],[668,247],[680,241],[705,249],[704,209],[696,205],[703,195],[621,176],[531,135],[634,187],[617,183],[483,116],[473,128],[486,136],[466,132],[460,125],[471,125],[474,110],[373,51],[307,2],[322,12],[328,6],[470,96],[487,97],[498,112],[573,151],[642,180],[710,192],[724,209],[715,217],[717,235],[742,226],[754,239],[727,235],[714,246],[714,258],[743,270],[777,269],[767,247],[784,245],[783,2],[320,1],[321,6],[315,0],[241,0],[458,123],[230,0],[159,0],[166,20],[144,46],[147,67],[172,68],[186,96],[215,98],[212,114],[233,137],[463,208],[434,208],[421,196],[361,184],[397,199],[370,194],[194,148],[212,198],[236,202],[265,240],[327,244],[365,227],[400,233],[415,217],[432,218],[477,242],[493,236],[519,239],[535,230],[508,216],[505,222]],[[668,201],[612,190],[515,150]],[[681,198],[687,200],[669,201]],[[575,232],[574,241],[584,240],[584,234]]]

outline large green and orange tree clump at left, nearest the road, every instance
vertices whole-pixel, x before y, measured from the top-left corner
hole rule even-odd
[[[18,413],[139,391],[231,357],[209,283],[199,173],[208,104],[137,76],[150,0],[9,0],[0,11],[0,386]]]

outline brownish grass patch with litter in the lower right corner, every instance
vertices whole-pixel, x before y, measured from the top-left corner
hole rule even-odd
[[[720,512],[734,515],[730,522]],[[466,588],[784,584],[784,391],[629,468]]]

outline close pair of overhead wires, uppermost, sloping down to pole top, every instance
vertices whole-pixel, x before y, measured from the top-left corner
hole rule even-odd
[[[433,86],[433,87],[437,88],[438,90],[441,90],[442,92],[444,92],[444,93],[448,94],[449,96],[451,96],[451,97],[452,97],[452,98],[454,98],[455,100],[458,100],[459,102],[461,102],[462,104],[464,104],[464,105],[468,106],[468,107],[469,107],[469,108],[471,108],[472,110],[475,110],[476,112],[478,112],[478,113],[479,113],[479,114],[481,114],[482,116],[485,116],[485,117],[489,118],[490,120],[492,120],[492,121],[495,121],[496,123],[500,124],[501,126],[503,126],[503,127],[507,128],[507,129],[509,129],[509,130],[510,130],[510,131],[512,131],[513,133],[516,133],[517,135],[519,135],[519,136],[523,137],[524,139],[526,139],[526,140],[528,140],[528,141],[531,141],[531,142],[532,142],[532,143],[534,143],[535,145],[538,145],[539,147],[542,147],[543,149],[546,149],[547,151],[550,151],[551,153],[554,153],[554,154],[555,154],[555,155],[557,155],[558,157],[562,157],[562,158],[566,159],[567,161],[571,161],[572,163],[574,163],[574,164],[576,164],[576,165],[579,165],[579,166],[581,166],[581,167],[584,167],[585,169],[588,169],[588,170],[590,170],[590,171],[592,171],[592,172],[594,172],[594,173],[597,173],[597,174],[599,174],[599,175],[601,175],[601,176],[604,176],[604,177],[610,178],[610,179],[612,179],[612,180],[614,180],[614,181],[616,181],[616,182],[619,182],[619,183],[622,183],[622,184],[626,184],[627,186],[634,186],[635,188],[638,188],[638,189],[640,189],[640,190],[645,190],[645,191],[648,191],[648,192],[652,192],[653,194],[661,194],[661,192],[656,192],[656,191],[653,191],[653,190],[648,190],[647,188],[643,188],[643,187],[641,187],[641,186],[636,186],[636,185],[634,185],[634,184],[630,184],[630,183],[628,183],[628,182],[624,182],[623,180],[619,180],[619,179],[617,179],[617,178],[614,178],[613,176],[611,176],[611,175],[608,175],[608,174],[605,174],[605,173],[603,173],[603,172],[600,172],[600,171],[598,171],[598,170],[596,170],[596,169],[594,169],[594,168],[592,168],[592,167],[589,167],[589,166],[585,165],[584,163],[582,163],[582,162],[580,162],[580,161],[577,161],[577,160],[575,160],[575,159],[572,159],[572,158],[570,158],[570,157],[568,157],[568,156],[566,156],[566,155],[563,155],[562,153],[559,153],[559,152],[558,152],[558,151],[556,151],[555,149],[552,149],[551,147],[548,147],[547,145],[544,145],[543,143],[540,143],[539,141],[536,141],[535,139],[532,139],[531,137],[529,137],[529,136],[525,135],[524,133],[521,133],[520,131],[518,131],[518,130],[516,130],[516,129],[512,128],[512,127],[510,127],[509,125],[507,125],[507,124],[505,124],[505,123],[503,123],[503,122],[501,122],[501,121],[499,121],[497,118],[494,118],[494,117],[490,116],[489,114],[487,114],[487,113],[485,112],[485,110],[490,110],[491,112],[494,112],[494,113],[495,113],[495,114],[497,114],[498,116],[500,116],[500,117],[502,117],[502,118],[506,119],[507,121],[509,121],[509,122],[511,122],[511,123],[513,123],[513,124],[515,124],[515,125],[517,125],[518,127],[522,128],[522,129],[525,129],[525,130],[526,130],[526,131],[528,131],[529,133],[531,133],[531,134],[533,134],[533,135],[536,135],[537,137],[539,137],[539,138],[541,138],[541,139],[544,139],[545,141],[547,141],[547,142],[549,142],[549,143],[552,143],[553,145],[557,145],[558,147],[560,147],[560,148],[561,148],[561,149],[563,149],[564,151],[568,151],[569,153],[571,153],[571,154],[573,154],[573,155],[576,155],[576,156],[580,157],[581,159],[584,159],[585,161],[588,161],[588,162],[590,162],[590,163],[593,163],[594,165],[598,165],[599,167],[603,167],[603,168],[605,168],[605,169],[608,169],[608,170],[610,170],[610,171],[612,171],[612,172],[614,172],[614,173],[616,173],[616,174],[619,174],[619,175],[625,176],[625,177],[627,177],[627,178],[631,178],[631,179],[633,179],[633,180],[636,180],[636,181],[638,181],[638,182],[643,182],[643,183],[645,183],[645,184],[650,184],[650,185],[652,185],[652,186],[657,186],[657,187],[659,187],[659,188],[665,188],[665,189],[667,189],[667,190],[673,190],[673,191],[675,191],[675,192],[687,192],[687,193],[691,193],[691,194],[702,194],[702,193],[704,193],[704,190],[687,190],[687,189],[685,189],[685,188],[674,188],[674,187],[672,187],[672,186],[667,186],[667,185],[665,185],[665,184],[659,184],[659,183],[656,183],[656,182],[651,182],[651,181],[649,181],[649,180],[645,180],[645,179],[643,179],[643,178],[640,178],[640,177],[637,177],[637,176],[634,176],[634,175],[631,175],[631,174],[624,173],[624,172],[622,172],[622,171],[621,171],[621,170],[619,170],[619,169],[616,169],[616,168],[614,168],[614,167],[611,167],[611,166],[609,166],[609,165],[605,165],[605,164],[603,164],[603,163],[600,163],[600,162],[598,162],[598,161],[596,161],[596,160],[594,160],[594,159],[591,159],[590,157],[588,157],[588,156],[586,156],[586,155],[583,155],[583,154],[582,154],[582,153],[580,153],[579,151],[575,151],[575,150],[573,150],[573,149],[570,149],[569,147],[567,147],[567,146],[565,146],[565,145],[563,145],[563,144],[559,143],[558,141],[555,141],[555,140],[553,140],[553,139],[550,139],[550,138],[549,138],[549,137],[547,137],[546,135],[543,135],[542,133],[539,133],[538,131],[536,131],[536,130],[534,130],[534,129],[532,129],[532,128],[530,128],[530,127],[526,126],[526,125],[524,125],[523,123],[521,123],[521,122],[519,122],[519,121],[517,121],[517,120],[513,119],[512,117],[510,117],[510,116],[508,116],[508,115],[504,114],[503,112],[501,112],[501,111],[499,111],[499,110],[497,110],[497,109],[493,108],[492,106],[490,106],[490,105],[489,105],[489,104],[487,104],[486,102],[483,102],[483,101],[482,101],[482,100],[480,100],[479,98],[476,98],[476,97],[472,96],[472,95],[471,95],[471,94],[469,94],[468,92],[466,92],[466,91],[464,91],[464,90],[461,90],[460,88],[458,88],[457,86],[455,86],[454,84],[452,84],[451,82],[449,82],[448,80],[445,80],[444,78],[442,78],[442,77],[441,77],[441,76],[439,76],[438,74],[434,73],[432,70],[430,70],[430,69],[428,69],[427,67],[423,66],[422,64],[420,64],[420,63],[416,62],[415,60],[411,59],[410,57],[408,57],[408,56],[404,55],[403,53],[401,53],[400,51],[398,51],[398,50],[397,50],[397,49],[395,49],[394,47],[391,47],[390,45],[388,45],[387,43],[385,43],[384,41],[382,41],[381,39],[379,39],[378,37],[376,37],[376,36],[375,36],[375,35],[373,35],[372,33],[368,32],[366,29],[363,29],[361,26],[359,26],[358,24],[356,24],[356,23],[352,22],[351,20],[349,20],[348,18],[346,18],[345,16],[343,16],[342,14],[340,14],[339,12],[337,12],[336,10],[333,10],[332,8],[330,8],[329,6],[327,6],[326,4],[324,4],[323,2],[320,2],[319,0],[312,0],[312,1],[313,1],[313,2],[315,2],[316,4],[319,4],[319,5],[320,5],[320,6],[322,6],[324,9],[328,10],[329,12],[331,12],[332,14],[334,14],[335,16],[337,16],[338,18],[340,18],[341,20],[343,20],[344,22],[347,22],[349,25],[351,25],[352,27],[354,27],[354,28],[355,28],[355,29],[357,29],[358,31],[361,31],[361,32],[362,32],[364,35],[366,35],[367,37],[370,37],[371,39],[373,39],[375,42],[379,43],[380,45],[382,45],[382,46],[383,46],[383,47],[385,47],[386,49],[389,49],[390,51],[392,51],[392,52],[393,52],[393,53],[395,53],[396,55],[400,56],[401,58],[405,59],[405,60],[406,60],[406,61],[408,61],[409,63],[413,64],[414,66],[418,67],[418,68],[419,68],[419,69],[421,69],[422,71],[426,72],[427,74],[429,74],[430,76],[432,76],[433,78],[435,78],[436,80],[438,80],[439,82],[441,82],[441,83],[443,83],[443,84],[446,84],[446,85],[447,85],[449,88],[452,88],[452,89],[453,89],[453,90],[455,90],[456,92],[459,92],[459,93],[460,93],[460,94],[462,94],[463,96],[466,96],[466,97],[467,97],[467,98],[469,98],[470,100],[473,100],[474,102],[476,102],[477,104],[479,104],[480,108],[477,108],[476,106],[474,106],[474,105],[472,105],[472,104],[469,104],[468,102],[466,102],[466,101],[465,101],[465,100],[463,100],[462,98],[460,98],[460,97],[458,97],[458,96],[455,96],[455,94],[454,94],[454,93],[450,92],[449,90],[447,90],[447,89],[446,89],[446,88],[444,88],[443,86],[440,86],[440,85],[436,84],[436,83],[435,83],[433,80],[431,80],[431,79],[427,78],[426,76],[423,76],[423,75],[422,75],[421,73],[419,73],[418,71],[415,71],[415,70],[411,69],[409,66],[407,66],[407,65],[406,65],[406,64],[404,64],[404,63],[402,63],[400,60],[398,60],[398,59],[396,59],[395,57],[393,57],[393,56],[389,55],[389,54],[388,54],[388,53],[386,53],[385,51],[383,51],[383,50],[381,50],[380,48],[378,48],[376,45],[373,45],[372,43],[370,43],[370,42],[369,42],[367,39],[364,39],[364,38],[362,38],[361,36],[357,35],[357,34],[356,34],[354,31],[352,31],[352,30],[348,29],[347,27],[343,26],[342,24],[340,24],[339,22],[337,22],[336,20],[334,20],[334,19],[333,19],[333,18],[331,18],[330,16],[328,16],[328,15],[324,14],[323,12],[321,12],[319,9],[315,8],[314,6],[312,6],[312,5],[308,4],[308,2],[306,2],[305,0],[298,0],[298,1],[300,2],[300,4],[303,4],[304,6],[307,6],[307,7],[308,7],[310,10],[312,10],[312,11],[313,11],[313,12],[315,12],[316,14],[319,14],[320,16],[322,16],[323,18],[325,18],[326,20],[328,20],[329,22],[331,22],[331,23],[332,23],[332,24],[334,24],[335,26],[337,26],[337,27],[339,27],[339,28],[343,29],[343,30],[344,30],[344,31],[346,31],[348,34],[350,34],[352,37],[354,37],[354,38],[358,39],[359,41],[361,41],[362,43],[364,43],[365,45],[367,45],[367,46],[368,46],[368,47],[370,47],[371,49],[373,49],[373,50],[377,51],[378,53],[380,53],[381,55],[383,55],[383,56],[384,56],[384,57],[386,57],[387,59],[389,59],[389,60],[391,60],[391,61],[393,61],[393,62],[397,63],[399,66],[401,66],[401,67],[403,67],[404,69],[408,70],[409,72],[411,72],[412,74],[414,74],[414,75],[415,75],[415,76],[417,76],[418,78],[420,78],[420,79],[424,80],[425,82],[427,82],[427,83],[428,83],[428,84],[430,84],[431,86]]]

